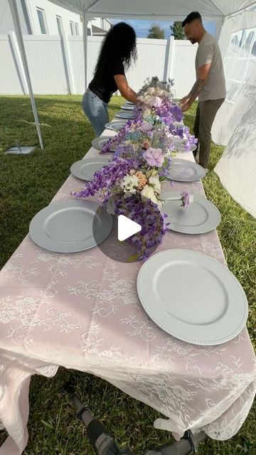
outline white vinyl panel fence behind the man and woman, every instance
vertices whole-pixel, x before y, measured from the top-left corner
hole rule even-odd
[[[83,44],[80,36],[23,36],[34,93],[82,94],[85,89]],[[92,79],[102,37],[88,36],[87,80]],[[197,45],[189,41],[137,39],[138,60],[127,72],[134,90],[146,77],[174,78],[176,97],[186,95],[195,82]],[[25,95],[28,87],[14,32],[0,35],[0,94]]]

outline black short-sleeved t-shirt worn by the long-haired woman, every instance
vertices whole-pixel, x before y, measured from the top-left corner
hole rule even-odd
[[[103,71],[96,71],[95,76],[89,84],[90,90],[92,90],[100,100],[110,102],[112,94],[117,91],[117,84],[114,80],[114,76],[117,74],[124,75],[122,60],[113,60],[113,62],[107,65]]]

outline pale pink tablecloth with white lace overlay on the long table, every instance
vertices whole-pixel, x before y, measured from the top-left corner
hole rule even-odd
[[[90,149],[87,157],[98,154]],[[191,153],[178,157],[193,160]],[[70,176],[53,203],[81,187]],[[169,188],[164,183],[164,191]],[[204,194],[201,182],[174,188]],[[216,231],[168,232],[157,251],[170,248],[203,252],[225,264]],[[105,378],[159,410],[167,419],[157,419],[155,427],[176,436],[188,428],[204,429],[214,439],[238,432],[256,388],[247,328],[233,341],[210,347],[169,336],[139,302],[141,265],[114,262],[99,247],[48,252],[29,236],[14,252],[0,273],[0,420],[10,435],[1,455],[21,454],[27,444],[31,375],[53,376],[58,365]]]

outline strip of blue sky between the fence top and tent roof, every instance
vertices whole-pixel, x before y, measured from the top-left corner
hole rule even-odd
[[[121,22],[122,19],[112,19],[112,23]],[[146,38],[149,28],[152,23],[159,23],[161,28],[164,28],[165,37],[169,38],[171,35],[170,25],[173,24],[171,21],[124,21],[129,23],[130,26],[134,28],[137,34],[137,38]],[[215,22],[204,22],[203,25],[205,26],[206,30],[215,35]]]

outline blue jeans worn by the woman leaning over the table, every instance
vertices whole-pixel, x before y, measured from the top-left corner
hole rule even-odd
[[[82,109],[87,119],[90,120],[96,136],[100,136],[105,129],[105,124],[110,121],[107,102],[100,100],[95,93],[87,88],[82,97]]]

